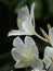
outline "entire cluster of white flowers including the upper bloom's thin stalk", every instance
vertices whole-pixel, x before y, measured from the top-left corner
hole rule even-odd
[[[18,29],[12,29],[9,32],[8,36],[36,35],[44,42],[50,40],[53,46],[53,27],[49,29],[49,40],[38,35],[35,31],[34,9],[35,2],[31,4],[30,13],[27,5],[18,11]],[[13,40],[13,47],[11,54],[16,61],[14,66],[15,68],[31,67],[34,68],[31,71],[53,71],[53,47],[45,47],[42,60],[39,58],[39,50],[35,40],[29,36],[26,36],[24,42],[18,36],[15,37]],[[43,63],[45,64],[45,69],[43,69]]]

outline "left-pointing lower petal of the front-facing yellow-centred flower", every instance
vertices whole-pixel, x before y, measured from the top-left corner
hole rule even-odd
[[[17,60],[26,60],[25,56],[23,55],[23,52],[21,50],[18,50],[17,48],[12,48],[11,50],[12,57],[15,61]]]

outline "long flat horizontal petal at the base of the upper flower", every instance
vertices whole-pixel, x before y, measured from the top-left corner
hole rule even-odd
[[[8,34],[8,36],[17,36],[17,35],[32,35],[32,34],[30,32],[15,31],[15,29],[12,29]]]

